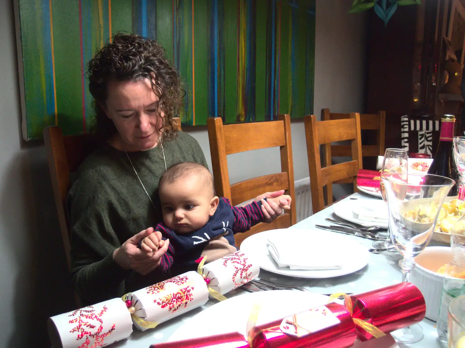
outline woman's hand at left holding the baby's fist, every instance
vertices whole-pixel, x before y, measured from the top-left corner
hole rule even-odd
[[[138,234],[129,238],[118,249],[113,251],[113,260],[124,269],[133,269],[142,276],[149,274],[160,264],[161,256],[165,254],[168,249],[169,240],[160,243],[159,249],[152,252],[146,252],[138,248],[141,239],[146,236],[156,233],[159,240],[161,240],[161,233],[154,231],[153,227],[140,231]],[[159,235],[158,235],[159,234]]]

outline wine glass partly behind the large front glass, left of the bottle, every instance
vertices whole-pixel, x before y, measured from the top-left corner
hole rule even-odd
[[[408,170],[407,164],[408,154],[407,150],[403,149],[386,149],[384,152],[383,165],[381,166],[381,177],[383,174],[387,173],[399,173],[406,172]],[[387,204],[386,192],[382,180],[379,180],[379,190],[381,191],[381,197],[383,201]],[[372,244],[374,249],[387,249],[392,246],[391,236],[389,235],[389,230],[385,240],[375,241]]]

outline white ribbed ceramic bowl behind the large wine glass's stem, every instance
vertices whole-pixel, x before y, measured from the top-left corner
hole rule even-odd
[[[420,289],[426,302],[426,318],[437,321],[444,275],[436,273],[439,267],[452,260],[450,247],[426,247],[415,257],[415,267],[409,277],[409,282]]]

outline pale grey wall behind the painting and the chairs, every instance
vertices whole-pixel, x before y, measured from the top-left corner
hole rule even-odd
[[[348,1],[317,1],[315,113],[363,108],[365,25]],[[0,0],[0,346],[45,346],[45,319],[73,309],[43,145],[20,140],[12,0]],[[210,161],[206,131],[192,131]],[[308,176],[302,122],[292,123],[295,179]],[[228,158],[232,182],[279,171],[278,149]],[[211,165],[211,164],[210,164]]]

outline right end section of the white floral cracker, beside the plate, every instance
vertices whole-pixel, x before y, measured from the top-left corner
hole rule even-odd
[[[203,268],[203,274],[210,279],[209,286],[221,295],[250,282],[259,273],[259,264],[242,250],[207,263]]]

